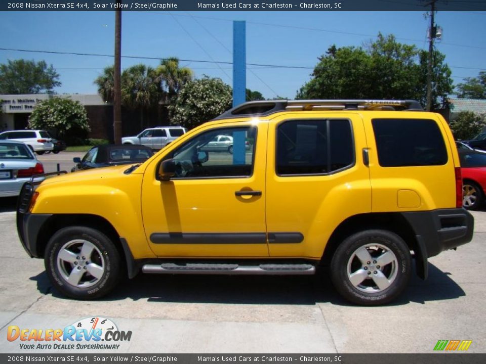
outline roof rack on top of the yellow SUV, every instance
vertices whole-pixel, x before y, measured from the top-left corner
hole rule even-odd
[[[214,120],[234,117],[268,116],[279,111],[309,110],[400,110],[424,111],[415,100],[273,100],[238,105]]]

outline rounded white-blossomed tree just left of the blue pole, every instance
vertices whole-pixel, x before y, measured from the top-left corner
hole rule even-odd
[[[187,82],[169,106],[171,124],[191,129],[231,108],[231,102],[231,87],[220,78]]]

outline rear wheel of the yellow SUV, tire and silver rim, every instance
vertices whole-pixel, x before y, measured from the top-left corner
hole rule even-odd
[[[362,254],[366,256],[363,249],[371,257],[369,261],[362,261]],[[394,260],[380,266],[379,259],[385,261],[383,254],[388,252],[393,253]],[[360,305],[379,305],[394,300],[403,292],[411,269],[410,249],[403,239],[386,230],[367,230],[351,235],[338,246],[331,260],[331,279],[346,300]],[[365,278],[353,284],[350,280],[353,275],[358,282]],[[382,281],[383,277],[386,281]],[[386,288],[379,287],[375,280],[380,280]]]

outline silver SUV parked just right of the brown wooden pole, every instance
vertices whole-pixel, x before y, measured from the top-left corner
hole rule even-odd
[[[136,136],[125,136],[121,138],[121,144],[144,145],[153,150],[158,150],[186,132],[187,129],[182,126],[157,126],[145,129]]]

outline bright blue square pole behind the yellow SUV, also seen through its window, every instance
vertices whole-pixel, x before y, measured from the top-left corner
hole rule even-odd
[[[246,101],[247,55],[246,22],[233,21],[233,107]],[[233,132],[233,164],[245,164],[245,136],[243,131]]]

